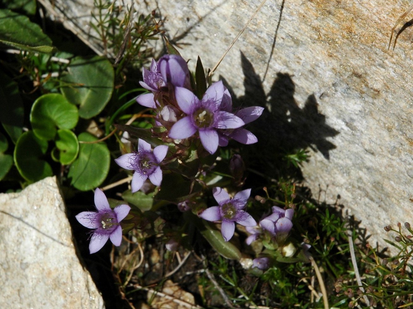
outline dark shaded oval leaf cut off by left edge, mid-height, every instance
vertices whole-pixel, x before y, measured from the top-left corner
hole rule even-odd
[[[10,77],[0,71],[0,97],[2,100],[0,122],[13,143],[23,133],[24,108],[19,94],[19,87]]]

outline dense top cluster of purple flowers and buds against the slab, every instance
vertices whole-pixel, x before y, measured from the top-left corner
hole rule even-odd
[[[256,136],[241,128],[257,119],[263,108],[252,106],[237,112],[222,81],[211,84],[202,98],[190,87],[190,73],[185,60],[177,55],[165,55],[152,60],[150,70],[144,69],[142,87],[151,91],[136,101],[156,110],[158,123],[165,126],[169,138],[183,140],[199,138],[210,154],[233,138],[243,144],[257,142]]]

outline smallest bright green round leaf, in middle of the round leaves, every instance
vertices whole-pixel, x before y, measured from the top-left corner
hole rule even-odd
[[[52,150],[52,158],[63,165],[71,164],[79,153],[79,143],[75,133],[60,129],[55,139],[56,147]]]

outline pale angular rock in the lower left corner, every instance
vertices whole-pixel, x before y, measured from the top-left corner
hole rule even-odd
[[[0,194],[0,308],[104,308],[79,262],[56,178]]]

